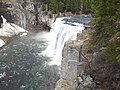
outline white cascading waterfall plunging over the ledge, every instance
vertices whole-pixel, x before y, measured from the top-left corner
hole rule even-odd
[[[66,23],[64,20],[66,17],[57,18],[51,28],[51,40],[43,55],[51,57],[53,61],[52,65],[61,65],[62,49],[64,44],[68,40],[75,40],[77,33],[84,30],[84,25],[76,22]]]

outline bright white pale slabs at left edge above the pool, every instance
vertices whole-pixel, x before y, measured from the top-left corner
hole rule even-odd
[[[14,23],[8,23],[7,20],[1,15],[3,19],[2,28],[0,28],[0,36],[2,37],[12,37],[22,33],[20,36],[27,35],[27,31]],[[5,45],[5,42],[0,39],[0,47]]]

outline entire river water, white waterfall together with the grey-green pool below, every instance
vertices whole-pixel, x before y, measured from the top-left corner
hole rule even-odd
[[[8,45],[0,48],[0,90],[53,90],[45,87],[53,88],[51,85],[54,84],[51,83],[55,83],[58,78],[53,73],[53,68],[50,70],[49,67],[43,67],[51,64],[49,61],[56,57],[58,60],[53,60],[52,64],[61,64],[64,43],[75,39],[90,18],[61,17],[53,24],[50,33],[39,32],[21,38],[15,37]],[[52,58],[46,57],[46,54]],[[18,87],[20,89],[16,89]],[[35,89],[37,87],[39,89]]]

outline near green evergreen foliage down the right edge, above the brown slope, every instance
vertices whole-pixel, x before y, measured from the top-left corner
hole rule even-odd
[[[95,32],[93,43],[97,48],[105,47],[102,52],[107,61],[120,62],[120,0],[92,0]]]

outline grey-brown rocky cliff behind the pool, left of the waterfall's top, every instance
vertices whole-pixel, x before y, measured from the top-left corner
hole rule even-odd
[[[3,9],[7,5],[6,9],[9,10],[11,17],[8,15],[6,17],[6,12],[0,14],[4,14],[9,22],[12,21],[28,31],[48,29],[47,26],[53,21],[43,14],[41,6],[34,0],[1,0],[1,2]]]

